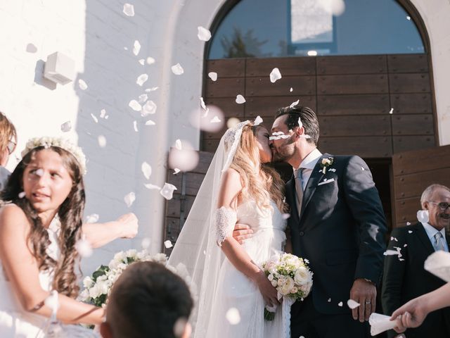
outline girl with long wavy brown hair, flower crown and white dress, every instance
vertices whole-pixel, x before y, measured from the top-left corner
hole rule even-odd
[[[85,158],[63,139],[27,143],[1,199],[0,337],[39,337],[58,292],[63,323],[100,324],[103,309],[76,301]]]

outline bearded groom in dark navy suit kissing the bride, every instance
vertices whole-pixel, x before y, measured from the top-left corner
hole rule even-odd
[[[311,108],[279,109],[271,133],[274,161],[294,169],[285,192],[293,253],[314,273],[311,294],[291,309],[291,337],[369,337],[386,232],[371,172],[358,156],[321,154]],[[251,232],[242,228],[238,240]],[[348,299],[360,306],[350,310]]]

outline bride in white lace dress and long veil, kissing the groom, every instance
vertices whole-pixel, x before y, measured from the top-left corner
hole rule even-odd
[[[280,304],[261,268],[286,240],[284,184],[264,166],[271,156],[258,123],[227,130],[179,234],[169,264],[184,263],[197,287],[193,337],[289,337],[288,302]],[[232,237],[236,222],[254,231],[242,246]],[[274,320],[264,320],[264,307],[277,305]]]

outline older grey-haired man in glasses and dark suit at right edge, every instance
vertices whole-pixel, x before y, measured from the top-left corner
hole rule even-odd
[[[437,250],[449,251],[450,189],[432,184],[420,198],[422,209],[428,211],[428,222],[392,230],[383,276],[382,301],[385,314],[391,315],[407,301],[431,292],[445,284],[424,270],[423,263]],[[388,333],[395,336],[394,331]],[[410,337],[450,337],[450,308],[430,313],[423,325],[406,331]]]

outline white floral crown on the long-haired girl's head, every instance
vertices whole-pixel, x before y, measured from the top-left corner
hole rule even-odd
[[[70,154],[77,159],[82,174],[86,174],[86,156],[84,156],[84,153],[79,146],[76,146],[68,139],[64,139],[63,137],[34,137],[28,140],[25,149],[22,151],[22,157],[38,146],[44,146],[45,148],[58,146],[58,148],[70,152]]]

